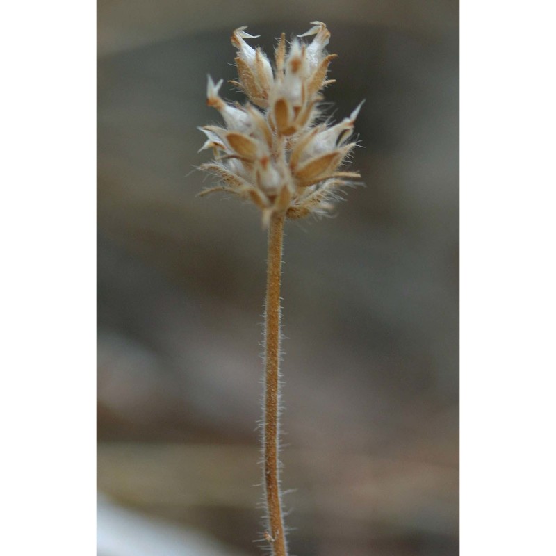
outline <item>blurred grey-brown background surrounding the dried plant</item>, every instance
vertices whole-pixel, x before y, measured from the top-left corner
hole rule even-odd
[[[364,148],[284,248],[292,555],[458,550],[458,10],[452,0],[99,0],[98,553],[261,549],[258,211],[195,195],[206,74],[314,19]],[[241,100],[226,87],[222,95]]]

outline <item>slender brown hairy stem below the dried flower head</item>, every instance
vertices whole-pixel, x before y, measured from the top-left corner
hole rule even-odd
[[[273,556],[287,556],[281,511],[279,449],[280,279],[284,215],[272,215],[268,229],[268,261],[265,310],[265,407],[263,455],[266,507]]]

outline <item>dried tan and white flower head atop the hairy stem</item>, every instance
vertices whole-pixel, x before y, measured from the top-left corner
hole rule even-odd
[[[199,128],[207,138],[200,150],[214,153],[201,169],[220,182],[202,195],[222,190],[250,199],[263,211],[264,224],[274,213],[287,218],[326,213],[338,190],[360,177],[341,167],[356,145],[350,138],[363,103],[338,124],[317,123],[322,120],[320,91],[334,83],[327,70],[336,54],[325,51],[330,38],[326,25],[311,25],[299,38],[312,36],[312,42],[296,38],[287,51],[282,33],[274,67],[260,48],[245,42],[259,35],[249,35],[246,27],[234,31],[238,81],[230,83],[247,95],[245,106],[222,100],[222,80],[214,83],[208,77],[206,102],[220,112],[225,126]]]

